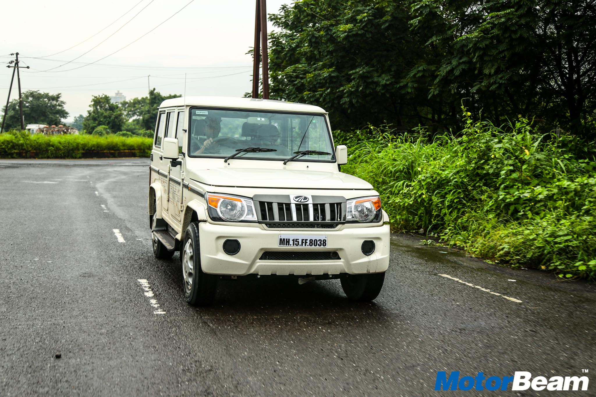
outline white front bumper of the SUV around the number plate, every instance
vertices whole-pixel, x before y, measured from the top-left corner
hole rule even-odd
[[[245,276],[246,274],[365,274],[380,273],[389,267],[389,225],[345,228],[343,230],[263,230],[259,227],[199,224],[201,268],[205,273]],[[280,234],[327,236],[325,248],[278,246]],[[226,239],[237,239],[240,252],[228,255],[222,246]],[[364,255],[361,245],[373,240],[375,251]],[[337,251],[339,260],[284,261],[260,260],[265,251]]]

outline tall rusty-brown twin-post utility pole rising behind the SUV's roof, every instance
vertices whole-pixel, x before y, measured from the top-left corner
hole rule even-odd
[[[261,54],[261,48],[263,49]],[[254,15],[253,98],[259,98],[259,58],[263,61],[263,99],[269,99],[269,57],[267,53],[267,3],[256,0]]]

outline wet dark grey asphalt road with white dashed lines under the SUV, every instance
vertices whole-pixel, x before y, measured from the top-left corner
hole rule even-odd
[[[190,307],[178,255],[151,252],[148,164],[0,161],[0,395],[427,396],[449,393],[437,371],[596,373],[593,285],[404,235],[374,303],[278,277]]]

